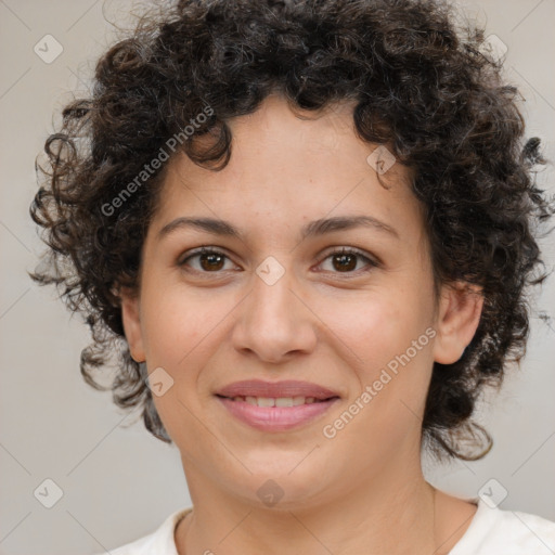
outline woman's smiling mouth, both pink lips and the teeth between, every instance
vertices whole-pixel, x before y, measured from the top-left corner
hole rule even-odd
[[[278,392],[272,395],[272,391]],[[307,425],[340,399],[334,391],[314,384],[259,380],[232,384],[216,393],[216,398],[229,414],[243,424],[274,433]]]

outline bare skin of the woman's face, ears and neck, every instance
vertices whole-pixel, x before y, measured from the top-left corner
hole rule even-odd
[[[380,177],[387,188],[379,183],[366,162],[376,145],[354,134],[352,108],[345,101],[297,111],[299,118],[274,94],[229,122],[233,153],[222,171],[184,155],[168,163],[141,287],[122,291],[121,307],[134,360],[173,379],[154,400],[194,505],[176,531],[180,555],[441,554],[476,511],[425,481],[421,421],[433,363],[461,357],[482,297],[460,283],[435,295],[410,172],[395,164]],[[308,222],[347,215],[372,216],[395,234],[359,227],[299,240]],[[158,236],[183,216],[220,218],[243,235],[179,228]],[[201,246],[228,258],[180,266]],[[341,247],[377,266],[356,257],[344,270],[331,256]],[[269,256],[285,272],[273,285],[256,273]],[[323,426],[428,327],[434,339],[333,439],[324,437]],[[340,400],[298,429],[263,433],[214,395],[248,378],[313,382]],[[271,507],[257,494],[269,479],[283,492]]]

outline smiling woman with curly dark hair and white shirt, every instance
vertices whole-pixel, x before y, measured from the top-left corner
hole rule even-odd
[[[555,550],[421,466],[491,448],[475,402],[542,279],[539,144],[482,52],[439,2],[216,0],[101,57],[47,142],[34,278],[87,315],[91,385],[120,352],[193,501],[113,553]]]

